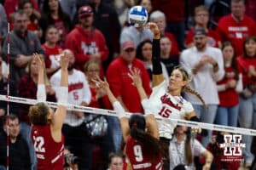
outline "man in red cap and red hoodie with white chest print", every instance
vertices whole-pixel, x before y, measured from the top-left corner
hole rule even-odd
[[[90,59],[102,63],[108,59],[108,47],[102,32],[93,24],[93,10],[90,6],[79,8],[79,24],[67,35],[66,47],[73,51],[75,67],[84,71],[84,64]],[[104,75],[101,64],[101,76]]]

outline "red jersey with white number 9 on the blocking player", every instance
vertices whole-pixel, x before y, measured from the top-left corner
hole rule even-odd
[[[146,156],[143,154],[143,144],[133,139],[131,136],[128,136],[125,154],[131,162],[131,167],[133,170],[162,170],[163,162],[162,156],[160,155],[157,160],[152,162],[150,158],[152,156]]]

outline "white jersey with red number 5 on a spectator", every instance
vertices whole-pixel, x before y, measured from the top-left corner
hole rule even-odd
[[[61,82],[61,70],[55,72],[55,74],[50,78],[50,83],[55,88],[55,94],[57,100],[60,97],[59,87]],[[88,82],[82,71],[73,69],[73,74],[68,75],[68,98],[67,103],[70,105],[81,105],[84,101],[85,103],[90,103],[90,88]],[[67,116],[64,123],[76,127],[82,124],[84,117],[78,118],[71,111],[67,111]]]

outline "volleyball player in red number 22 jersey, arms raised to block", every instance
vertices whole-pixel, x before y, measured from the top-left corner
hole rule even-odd
[[[67,105],[67,65],[68,56],[61,56],[61,87],[59,93],[61,100],[54,112],[49,105],[44,103],[46,99],[44,85],[44,60],[40,59],[38,54],[33,56],[38,63],[38,104],[30,107],[28,116],[32,122],[32,142],[36,150],[38,159],[38,170],[60,170],[63,169],[64,161],[64,137],[61,133],[61,127],[66,116]]]

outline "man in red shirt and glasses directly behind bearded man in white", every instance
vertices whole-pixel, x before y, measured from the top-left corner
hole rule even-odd
[[[215,48],[221,47],[221,42],[220,42],[220,37],[218,35],[218,32],[207,28],[208,21],[209,21],[209,11],[207,7],[203,5],[196,7],[195,8],[195,27],[189,30],[186,37],[185,44],[187,48],[191,48],[192,46],[194,46],[193,32],[195,31],[195,28],[198,28],[198,27],[204,28],[205,31],[207,31],[208,45]]]

